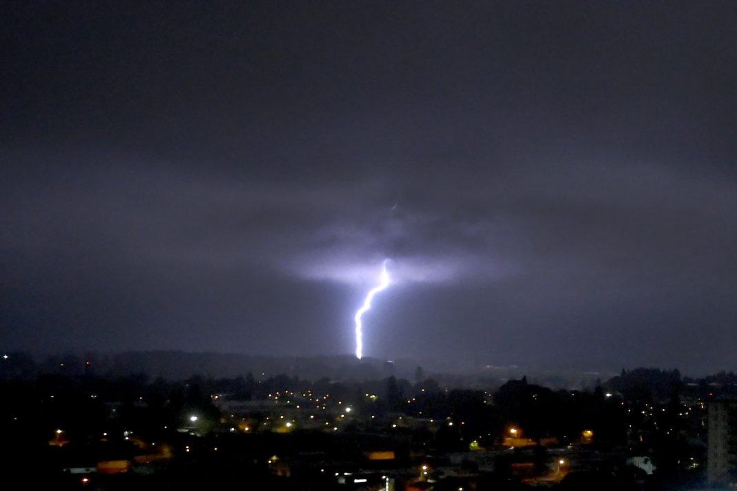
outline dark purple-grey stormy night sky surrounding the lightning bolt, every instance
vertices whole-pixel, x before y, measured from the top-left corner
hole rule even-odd
[[[0,9],[1,350],[737,369],[733,1]]]

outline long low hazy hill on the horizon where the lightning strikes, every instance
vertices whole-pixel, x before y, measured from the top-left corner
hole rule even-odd
[[[126,377],[145,375],[147,378],[183,380],[203,378],[237,378],[249,372],[258,379],[276,375],[317,381],[380,380],[390,376],[416,382],[433,378],[444,386],[465,386],[487,389],[505,381],[527,375],[531,382],[553,388],[592,388],[604,374],[573,370],[530,370],[529,367],[492,366],[473,361],[438,362],[432,359],[379,358],[358,360],[342,356],[256,356],[237,353],[189,353],[174,350],[126,351],[120,353],[87,352],[68,355],[30,356],[28,353],[8,353],[0,363],[0,378],[34,376],[40,372],[66,375]],[[612,374],[615,375],[615,374]]]

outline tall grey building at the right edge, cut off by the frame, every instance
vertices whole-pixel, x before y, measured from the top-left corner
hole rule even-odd
[[[706,478],[713,484],[737,484],[737,400],[709,403]]]

